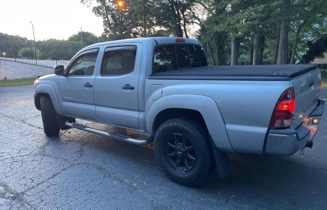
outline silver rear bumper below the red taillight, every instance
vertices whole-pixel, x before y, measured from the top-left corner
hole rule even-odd
[[[309,114],[309,121],[296,129],[271,129],[266,137],[265,151],[267,155],[289,156],[306,146],[312,146],[313,137],[318,131],[320,118],[324,110],[324,101],[319,100],[316,108]],[[312,123],[318,119],[318,123]]]

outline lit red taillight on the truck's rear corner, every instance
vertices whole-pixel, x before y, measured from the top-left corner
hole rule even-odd
[[[285,128],[292,124],[295,111],[295,93],[293,87],[288,88],[278,99],[270,120],[270,127]]]

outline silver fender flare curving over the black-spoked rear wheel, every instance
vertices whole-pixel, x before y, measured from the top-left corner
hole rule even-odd
[[[152,125],[157,114],[170,108],[193,109],[200,112],[216,147],[222,152],[233,152],[220,110],[216,102],[206,96],[171,95],[155,101],[146,111],[146,128],[149,133],[154,135]]]

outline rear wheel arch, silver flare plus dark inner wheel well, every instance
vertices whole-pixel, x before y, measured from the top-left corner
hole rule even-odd
[[[147,108],[146,113],[146,128],[152,135],[162,119],[168,120],[191,113],[191,118],[203,121],[217,148],[223,152],[233,152],[222,115],[212,98],[200,95],[171,95],[154,102]]]

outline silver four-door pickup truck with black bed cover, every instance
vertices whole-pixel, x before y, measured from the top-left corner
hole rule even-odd
[[[137,145],[154,141],[173,180],[196,185],[229,153],[288,156],[312,147],[324,109],[316,65],[208,66],[202,45],[157,37],[87,46],[35,81],[44,133],[76,128]],[[147,132],[149,139],[77,124]],[[150,136],[150,135],[149,135]]]

